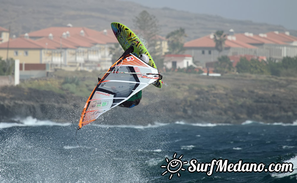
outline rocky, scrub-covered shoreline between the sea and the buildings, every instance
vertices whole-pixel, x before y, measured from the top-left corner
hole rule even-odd
[[[297,120],[297,79],[256,75],[223,77],[166,73],[162,89],[143,90],[139,106],[115,107],[98,119],[104,124],[246,120],[292,123]],[[95,85],[94,85],[95,86]],[[86,97],[23,87],[0,88],[0,122],[32,116],[78,123]]]

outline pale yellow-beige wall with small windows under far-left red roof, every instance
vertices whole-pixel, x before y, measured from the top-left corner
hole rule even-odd
[[[15,51],[18,52],[18,55],[15,55]],[[24,55],[27,52],[28,55]],[[8,58],[19,59],[20,63],[41,63],[40,62],[40,52],[41,50],[33,50],[33,49],[9,49]],[[0,49],[0,56],[3,59],[6,59],[7,49]]]

